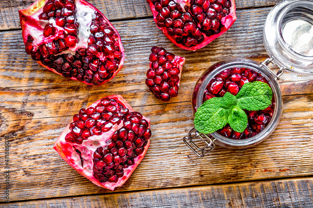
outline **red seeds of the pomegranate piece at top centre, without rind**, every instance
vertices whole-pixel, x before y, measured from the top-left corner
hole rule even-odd
[[[152,0],[157,26],[166,28],[177,43],[195,46],[206,36],[218,34],[223,27],[222,18],[229,14],[230,0],[191,0],[190,7],[182,7],[173,0]]]

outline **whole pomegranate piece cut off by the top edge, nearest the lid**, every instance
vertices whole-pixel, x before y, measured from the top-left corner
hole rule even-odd
[[[147,0],[158,28],[176,46],[195,51],[236,21],[235,0]]]

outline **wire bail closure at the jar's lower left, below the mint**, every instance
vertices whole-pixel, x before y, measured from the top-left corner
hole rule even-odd
[[[192,133],[195,133],[194,135],[192,135]],[[200,138],[201,140],[203,140],[203,142],[206,144],[205,146],[203,146],[203,148],[199,148],[193,141],[192,139],[196,139],[196,138]],[[196,130],[196,128],[192,128],[191,131],[189,132],[188,137],[184,137],[182,139],[184,141],[184,143],[192,150],[192,152],[194,152],[198,157],[204,157],[205,153],[211,152],[214,148],[215,148],[215,138],[212,140],[211,138],[208,137],[208,135],[200,133]],[[201,152],[201,154],[199,154],[197,152],[197,150],[195,150],[194,148],[192,148],[192,146],[188,143],[188,141],[192,144],[192,146],[194,148],[196,148],[198,151]]]

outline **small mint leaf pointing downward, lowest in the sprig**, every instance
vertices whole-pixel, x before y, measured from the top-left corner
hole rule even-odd
[[[248,116],[242,109],[235,106],[229,114],[228,123],[234,131],[242,133],[247,128]]]

